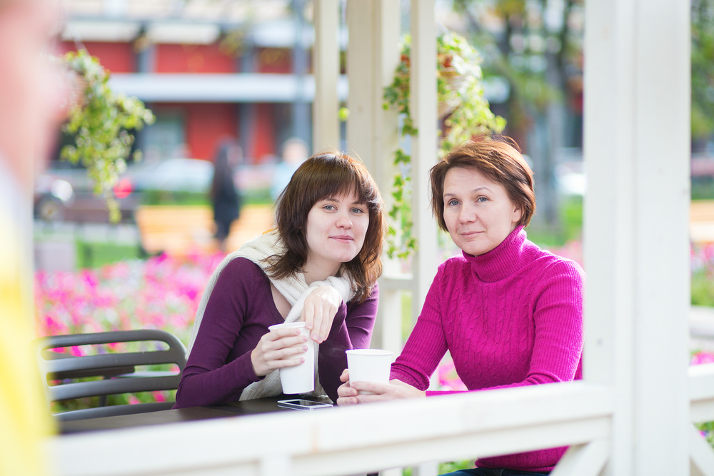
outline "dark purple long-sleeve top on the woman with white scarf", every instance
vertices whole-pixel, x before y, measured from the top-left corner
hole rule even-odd
[[[378,297],[375,284],[363,303],[341,303],[327,340],[320,344],[318,377],[333,401],[337,400],[340,375],[347,368],[345,350],[369,347]],[[246,258],[231,260],[206,303],[174,408],[239,400],[244,388],[262,379],[253,370],[252,350],[268,333],[269,325],[283,322],[263,270]]]

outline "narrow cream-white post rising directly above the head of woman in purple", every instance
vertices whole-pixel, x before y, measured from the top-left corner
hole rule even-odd
[[[323,148],[340,146],[337,92],[337,81],[340,76],[339,2],[315,0],[314,9],[313,151],[320,151]]]

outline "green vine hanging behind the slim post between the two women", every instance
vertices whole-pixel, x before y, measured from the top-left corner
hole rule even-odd
[[[384,88],[384,108],[394,108],[403,122],[400,134],[415,136],[409,109],[409,64],[411,37],[406,36],[401,45],[401,61],[394,72],[392,83]],[[441,139],[438,155],[443,155],[458,143],[474,136],[501,133],[506,120],[496,116],[488,106],[483,94],[481,55],[468,44],[463,36],[448,32],[437,38],[436,88],[439,118],[445,118],[445,134]],[[387,236],[387,253],[390,258],[407,258],[416,250],[416,238],[412,236],[411,210],[411,156],[402,148],[394,154],[393,163],[398,169],[394,176],[391,195],[393,205],[389,211],[392,224]]]

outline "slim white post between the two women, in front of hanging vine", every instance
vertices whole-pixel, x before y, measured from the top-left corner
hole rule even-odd
[[[418,134],[411,141],[412,214],[418,240],[413,273],[415,280],[412,310],[421,308],[436,275],[438,249],[436,221],[429,207],[429,169],[437,157],[436,118],[436,21],[434,0],[411,2],[411,113]]]

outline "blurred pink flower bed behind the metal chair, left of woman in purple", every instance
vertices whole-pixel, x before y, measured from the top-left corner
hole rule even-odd
[[[203,288],[223,255],[159,255],[35,275],[37,333],[163,329],[188,343]],[[76,350],[79,352],[79,350]]]

